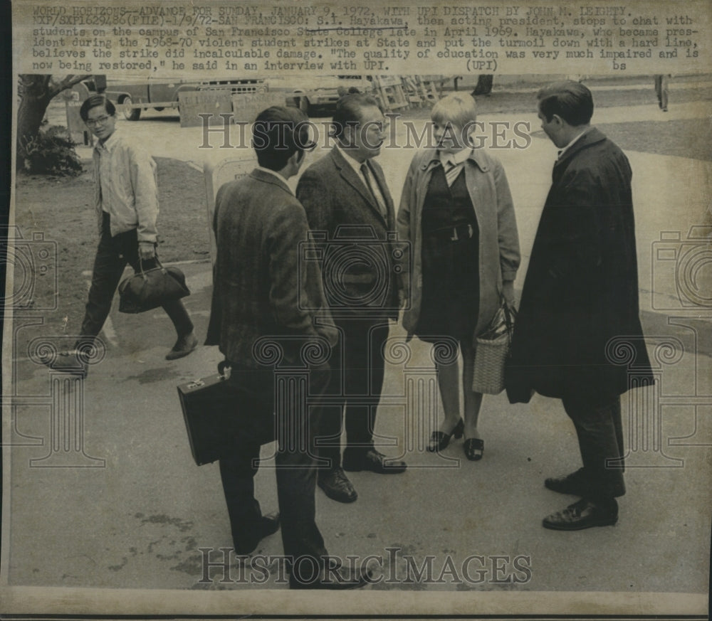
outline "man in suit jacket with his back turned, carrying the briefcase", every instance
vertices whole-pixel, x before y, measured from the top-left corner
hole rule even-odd
[[[231,368],[228,386],[240,408],[234,447],[220,459],[235,552],[251,553],[279,527],[279,516],[262,515],[253,483],[260,445],[276,435],[277,497],[284,553],[292,560],[290,587],[353,588],[365,584],[367,571],[346,575],[326,567],[329,561],[315,522],[311,437],[313,413],[318,410],[301,408],[289,399],[278,407],[275,373],[263,347],[267,338],[270,352],[278,350],[288,366],[303,367],[305,347],[320,344],[328,350],[337,342],[318,265],[306,265],[304,278],[298,271],[308,224],[286,181],[299,171],[310,144],[303,112],[268,108],[253,126],[259,166],[219,189],[206,345],[219,345],[224,354]],[[318,396],[329,381],[328,364],[310,365],[308,376],[310,394]]]

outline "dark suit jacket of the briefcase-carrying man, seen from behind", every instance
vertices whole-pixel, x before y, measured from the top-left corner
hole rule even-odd
[[[320,334],[336,344],[318,263],[299,260],[300,243],[308,239],[304,209],[284,181],[255,169],[225,184],[213,228],[217,259],[206,345],[257,367],[253,346],[262,336]]]

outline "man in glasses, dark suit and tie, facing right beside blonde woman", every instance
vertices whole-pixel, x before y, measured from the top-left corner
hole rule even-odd
[[[326,460],[318,485],[340,502],[357,499],[345,470],[392,474],[406,469],[405,462],[376,450],[373,441],[383,347],[389,319],[396,320],[399,310],[393,201],[373,159],[381,149],[384,124],[370,95],[342,97],[333,117],[336,144],[304,172],[297,187],[313,234],[325,240],[324,289],[340,332],[327,391],[332,400],[320,415],[317,438],[319,456]],[[341,397],[337,403],[334,396]]]

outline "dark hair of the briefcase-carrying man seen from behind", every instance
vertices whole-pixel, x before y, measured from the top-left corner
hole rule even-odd
[[[309,117],[296,107],[272,106],[260,112],[252,127],[259,165],[278,171],[296,152],[313,149],[309,126]]]

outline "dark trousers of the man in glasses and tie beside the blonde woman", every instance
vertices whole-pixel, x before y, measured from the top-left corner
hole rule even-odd
[[[360,317],[336,320],[339,344],[330,360],[331,382],[327,391],[330,403],[319,417],[317,450],[328,463],[320,467],[341,465],[342,420],[346,429],[345,452],[365,452],[373,447],[376,410],[384,376],[383,346],[388,338],[387,319]],[[345,407],[344,407],[345,406]]]

